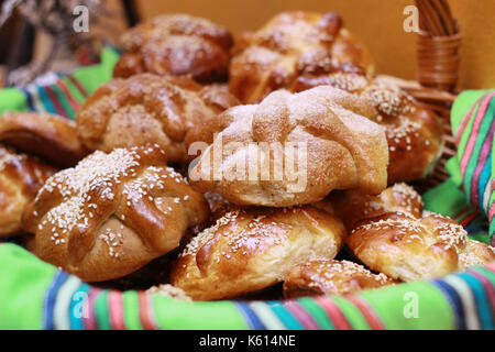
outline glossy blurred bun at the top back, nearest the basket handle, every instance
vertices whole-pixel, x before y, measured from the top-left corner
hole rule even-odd
[[[233,52],[230,89],[243,103],[288,88],[300,75],[374,72],[369,51],[332,12],[279,13],[258,31],[244,33]]]

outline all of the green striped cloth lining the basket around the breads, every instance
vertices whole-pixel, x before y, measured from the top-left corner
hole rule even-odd
[[[107,48],[98,65],[81,67],[70,75],[55,75],[43,85],[2,89],[0,114],[31,110],[74,119],[87,95],[111,78],[118,56]],[[486,146],[493,143],[493,105],[490,92],[460,96],[452,114],[460,148],[459,156],[448,163],[452,178],[425,195],[427,209],[455,217],[470,235],[485,242],[488,230],[485,215],[493,219],[494,209],[492,146]],[[491,163],[490,168],[486,165]],[[491,188],[486,183],[492,183]],[[40,261],[19,245],[0,244],[0,329],[493,330],[494,327],[495,263],[441,279],[348,297],[186,302],[160,294],[99,289]]]

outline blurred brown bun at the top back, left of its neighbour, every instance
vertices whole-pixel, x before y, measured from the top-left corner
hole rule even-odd
[[[190,75],[202,82],[224,80],[229,70],[231,34],[206,19],[163,14],[122,35],[124,53],[114,77],[140,73]]]

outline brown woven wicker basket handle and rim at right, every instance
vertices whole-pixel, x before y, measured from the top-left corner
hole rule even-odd
[[[443,120],[446,146],[433,173],[419,185],[431,188],[449,178],[447,161],[457,153],[450,124],[450,109],[457,97],[461,32],[447,0],[416,0],[420,31],[417,37],[417,79],[396,84]]]

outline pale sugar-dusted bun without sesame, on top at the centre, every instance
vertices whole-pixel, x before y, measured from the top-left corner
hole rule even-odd
[[[208,133],[231,123],[194,163],[189,180],[235,205],[304,205],[333,189],[380,194],[388,150],[383,128],[365,118],[372,110],[364,99],[326,86],[274,91],[258,105],[231,108],[208,120]]]

